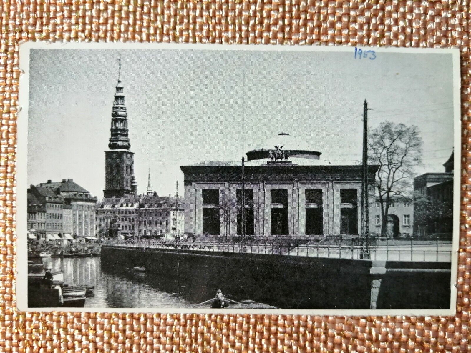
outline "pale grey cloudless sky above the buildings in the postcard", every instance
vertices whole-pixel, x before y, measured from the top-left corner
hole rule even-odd
[[[32,49],[28,184],[75,182],[98,198],[121,55],[138,193],[150,168],[158,195],[183,193],[181,165],[240,160],[281,132],[321,159],[361,159],[368,124],[417,125],[423,165],[442,172],[453,149],[451,54],[252,50]]]

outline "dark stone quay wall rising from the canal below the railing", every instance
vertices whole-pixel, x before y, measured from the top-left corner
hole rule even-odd
[[[394,262],[183,249],[102,247],[102,266],[153,274],[280,308],[414,309],[450,306],[450,263]],[[431,292],[433,291],[433,293]]]

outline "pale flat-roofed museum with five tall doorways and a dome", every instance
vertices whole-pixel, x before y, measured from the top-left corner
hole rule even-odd
[[[333,165],[302,139],[286,133],[247,152],[244,163],[246,234],[255,237],[325,239],[358,236],[361,165]],[[185,184],[185,233],[242,234],[242,163],[206,161],[181,166]],[[368,167],[374,208],[374,177]],[[370,229],[374,212],[369,212]],[[374,232],[374,227],[372,229]]]

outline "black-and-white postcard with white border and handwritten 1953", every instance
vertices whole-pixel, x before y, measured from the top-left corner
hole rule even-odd
[[[19,309],[455,313],[458,49],[26,43],[20,68]]]

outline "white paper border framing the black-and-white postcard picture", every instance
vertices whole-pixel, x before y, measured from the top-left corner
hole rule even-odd
[[[451,262],[451,298],[449,309],[200,309],[200,308],[34,308],[27,306],[27,140],[28,140],[28,103],[29,103],[29,53],[31,49],[154,49],[154,50],[248,50],[248,51],[313,51],[313,52],[353,52],[355,47],[347,46],[268,46],[268,45],[229,45],[229,44],[176,44],[176,43],[78,43],[78,42],[24,42],[19,49],[19,112],[17,116],[17,149],[16,149],[16,306],[19,311],[35,312],[107,312],[107,313],[223,313],[223,314],[284,314],[284,315],[341,315],[341,316],[435,316],[455,315],[456,312],[456,279],[460,233],[460,200],[461,200],[461,70],[460,52],[456,48],[384,48],[364,47],[377,53],[422,53],[453,55],[453,99],[454,99],[454,208],[453,208],[453,242]],[[47,136],[46,136],[47,138]]]

